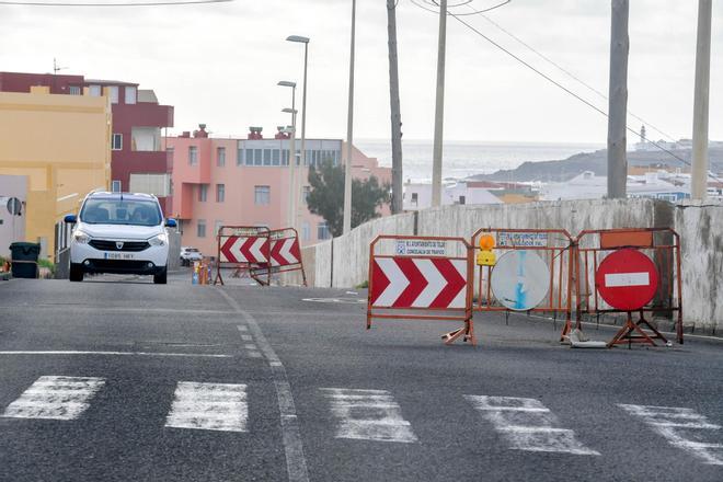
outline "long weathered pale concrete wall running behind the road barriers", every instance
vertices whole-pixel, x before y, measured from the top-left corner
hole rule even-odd
[[[585,229],[670,227],[681,238],[686,324],[705,332],[723,330],[723,287],[719,287],[723,283],[723,204],[720,203],[676,206],[654,199],[590,199],[424,209],[376,219],[347,236],[305,248],[309,286],[348,288],[366,282],[369,244],[379,234],[469,240],[483,227],[564,229],[573,237]]]

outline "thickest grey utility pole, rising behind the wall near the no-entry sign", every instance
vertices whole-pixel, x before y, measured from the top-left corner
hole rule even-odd
[[[628,0],[612,0],[610,94],[608,108],[608,198],[624,198],[628,180],[626,117],[628,112]]]

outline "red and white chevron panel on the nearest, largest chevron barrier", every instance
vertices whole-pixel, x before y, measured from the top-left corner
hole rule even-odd
[[[467,305],[467,260],[375,257],[372,308],[461,308]]]

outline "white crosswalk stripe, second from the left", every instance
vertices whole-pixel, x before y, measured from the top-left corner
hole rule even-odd
[[[165,426],[246,432],[248,420],[245,385],[180,381]]]

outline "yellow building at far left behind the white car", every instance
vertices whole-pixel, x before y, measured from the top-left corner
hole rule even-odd
[[[55,253],[56,225],[85,194],[110,187],[107,96],[0,92],[0,175],[27,176],[25,241]]]

